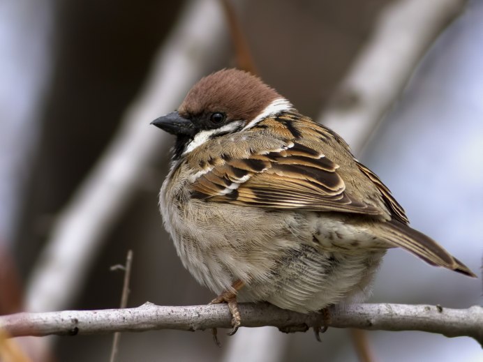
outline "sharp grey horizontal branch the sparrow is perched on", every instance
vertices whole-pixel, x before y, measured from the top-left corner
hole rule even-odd
[[[322,315],[283,310],[267,303],[241,303],[241,326],[275,326],[282,331],[306,331],[324,324]],[[77,335],[141,332],[157,329],[198,331],[230,328],[228,306],[156,306],[106,310],[22,312],[0,317],[0,326],[12,337],[22,335]],[[483,345],[483,307],[450,309],[406,304],[359,304],[330,310],[329,326],[383,331],[424,331],[447,337],[468,336]]]

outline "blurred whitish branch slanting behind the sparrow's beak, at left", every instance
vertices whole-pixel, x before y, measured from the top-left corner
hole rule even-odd
[[[31,271],[26,308],[61,310],[75,300],[107,231],[124,212],[167,138],[149,121],[174,110],[226,45],[223,16],[211,0],[186,4],[154,60],[149,82],[126,112],[117,136],[59,215]]]

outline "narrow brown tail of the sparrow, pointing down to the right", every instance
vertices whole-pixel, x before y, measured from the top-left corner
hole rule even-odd
[[[468,266],[453,257],[445,248],[422,232],[418,232],[397,220],[391,220],[380,225],[382,226],[380,237],[387,243],[406,249],[431,265],[443,266],[476,278],[475,273],[470,271]]]

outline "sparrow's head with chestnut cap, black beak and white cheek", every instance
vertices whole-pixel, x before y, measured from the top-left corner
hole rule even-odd
[[[179,158],[209,139],[248,130],[262,119],[292,109],[274,89],[242,70],[224,69],[202,78],[176,112],[151,122],[177,136]]]

